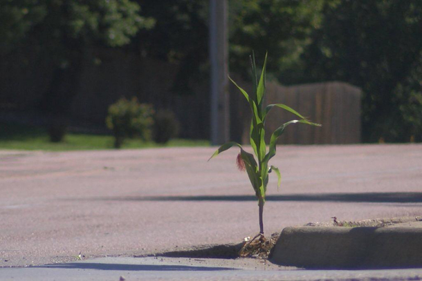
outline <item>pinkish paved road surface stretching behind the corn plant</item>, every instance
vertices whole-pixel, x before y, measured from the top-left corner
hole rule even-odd
[[[239,242],[258,231],[236,150],[0,152],[0,266]],[[422,145],[280,146],[266,233],[330,220],[421,215]],[[177,247],[177,248],[176,248]]]

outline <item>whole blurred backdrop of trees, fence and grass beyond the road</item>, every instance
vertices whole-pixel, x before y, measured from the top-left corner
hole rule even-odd
[[[210,1],[1,0],[0,149],[208,145]],[[230,76],[268,51],[268,103],[323,124],[282,143],[422,141],[422,1],[226,3]],[[228,122],[248,142],[232,86]]]

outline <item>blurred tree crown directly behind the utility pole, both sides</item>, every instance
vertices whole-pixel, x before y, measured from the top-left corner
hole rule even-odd
[[[192,92],[190,78],[203,79],[208,68],[208,6],[210,0],[138,0],[143,15],[156,19],[151,30],[141,30],[136,42],[145,56],[181,65],[174,90]],[[230,72],[250,69],[252,50],[263,57],[268,50],[268,71],[291,68],[304,46],[311,43],[311,31],[322,19],[327,0],[230,0]],[[249,77],[248,77],[249,79]]]

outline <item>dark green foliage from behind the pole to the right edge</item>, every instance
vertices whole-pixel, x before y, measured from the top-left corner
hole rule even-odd
[[[203,67],[208,0],[138,3],[156,26],[141,30],[137,42],[147,55],[179,62],[183,70],[175,88],[190,93],[187,79],[208,69]],[[401,89],[407,96],[420,88],[407,77],[422,50],[422,1],[230,0],[228,5],[232,72],[246,77],[248,61],[242,58],[251,50],[268,50],[273,57],[268,79],[345,81],[362,88],[364,142],[380,137],[405,142],[414,134],[410,127],[416,121],[410,119],[420,119],[419,111],[412,109],[415,98],[403,97]]]

